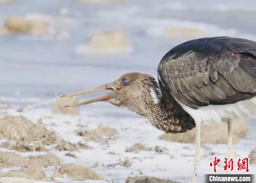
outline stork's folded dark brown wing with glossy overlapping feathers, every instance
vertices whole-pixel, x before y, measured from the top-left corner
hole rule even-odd
[[[250,99],[256,96],[256,42],[211,37],[182,43],[162,58],[158,80],[192,108]]]

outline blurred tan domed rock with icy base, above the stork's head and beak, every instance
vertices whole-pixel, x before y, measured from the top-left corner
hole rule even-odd
[[[86,45],[76,48],[81,55],[121,54],[131,52],[131,46],[125,34],[120,30],[107,30],[94,33]]]

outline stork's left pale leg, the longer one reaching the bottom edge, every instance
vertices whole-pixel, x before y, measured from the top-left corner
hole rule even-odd
[[[196,154],[194,156],[194,173],[193,173],[193,183],[196,182],[196,176],[197,176],[197,172],[199,169],[199,164],[200,164],[200,160],[201,160],[201,152],[200,152],[200,141],[201,141],[201,124],[200,123],[196,123]]]

